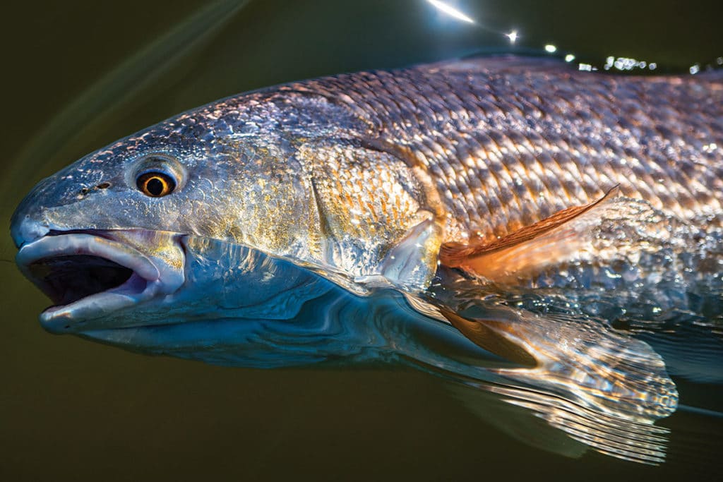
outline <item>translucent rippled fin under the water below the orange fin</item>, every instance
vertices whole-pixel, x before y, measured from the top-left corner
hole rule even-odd
[[[664,461],[666,429],[653,426],[677,408],[677,389],[654,350],[597,320],[477,301],[437,311],[476,345],[521,364],[488,370],[502,379],[474,384],[527,408],[600,452],[649,464]],[[579,447],[578,447],[579,448]]]

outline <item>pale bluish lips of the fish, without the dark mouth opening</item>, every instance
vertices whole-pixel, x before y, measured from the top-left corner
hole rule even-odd
[[[42,290],[44,280],[30,270],[43,259],[89,255],[132,270],[118,286],[83,296],[65,305],[51,306],[40,314],[40,324],[51,332],[69,332],[90,319],[147,301],[159,294],[175,292],[184,282],[183,270],[153,262],[141,251],[114,240],[106,231],[54,231],[23,243],[15,257],[20,271]]]

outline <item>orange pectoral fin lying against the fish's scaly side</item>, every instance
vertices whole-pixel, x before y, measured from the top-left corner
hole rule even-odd
[[[568,207],[492,243],[445,244],[440,262],[497,283],[565,262],[589,244],[591,226],[599,223],[602,206],[618,190],[615,186],[589,205]]]

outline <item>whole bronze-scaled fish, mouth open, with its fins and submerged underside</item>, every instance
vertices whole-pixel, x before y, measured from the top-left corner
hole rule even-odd
[[[41,181],[17,262],[51,332],[407,363],[529,443],[662,462],[680,359],[656,330],[719,350],[721,78],[468,59],[240,95]]]

